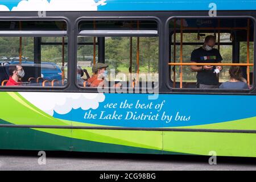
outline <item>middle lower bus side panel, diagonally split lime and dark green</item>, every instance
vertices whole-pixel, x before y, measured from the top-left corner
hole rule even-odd
[[[73,151],[162,154],[162,131],[72,131]]]

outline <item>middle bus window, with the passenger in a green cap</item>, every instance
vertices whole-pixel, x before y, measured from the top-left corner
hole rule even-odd
[[[81,40],[85,40],[84,45]],[[77,47],[77,67],[90,75],[88,78],[83,74],[84,84],[77,78],[83,88],[103,82],[104,86],[122,88],[152,88],[158,84],[159,38],[155,21],[82,21]],[[104,67],[106,71],[102,73],[108,73],[101,75],[94,67]],[[94,78],[101,76],[97,84],[92,84],[92,80],[98,80]]]

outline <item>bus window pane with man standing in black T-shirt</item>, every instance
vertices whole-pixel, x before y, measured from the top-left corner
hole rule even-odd
[[[250,19],[171,19],[169,30],[172,88],[253,87],[254,25]],[[236,76],[235,67],[239,67]],[[216,73],[217,68],[220,72]]]

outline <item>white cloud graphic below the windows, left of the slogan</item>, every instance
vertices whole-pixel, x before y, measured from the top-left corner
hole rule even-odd
[[[72,109],[97,109],[100,102],[105,100],[103,93],[36,93],[19,92],[28,102],[49,115],[53,111],[67,114]]]

